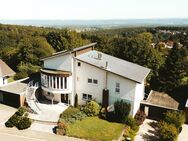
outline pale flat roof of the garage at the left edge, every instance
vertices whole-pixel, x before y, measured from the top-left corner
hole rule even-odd
[[[1,92],[8,92],[17,95],[22,95],[27,87],[26,83],[23,82],[13,82],[6,86],[0,87]]]

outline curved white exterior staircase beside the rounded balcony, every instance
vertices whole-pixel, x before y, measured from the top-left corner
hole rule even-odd
[[[27,102],[28,106],[31,108],[31,110],[33,111],[33,113],[35,113],[35,114],[41,113],[41,109],[38,106],[39,102],[35,96],[35,92],[38,88],[39,88],[38,83],[33,83],[33,81],[30,81],[27,84],[27,87],[25,90],[26,102]]]

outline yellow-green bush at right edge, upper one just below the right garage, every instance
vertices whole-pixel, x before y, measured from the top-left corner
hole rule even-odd
[[[180,130],[182,124],[185,123],[185,113],[181,111],[167,111],[164,114],[164,121],[169,124],[174,124]]]

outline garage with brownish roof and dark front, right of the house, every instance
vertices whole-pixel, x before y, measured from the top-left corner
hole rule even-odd
[[[143,100],[140,109],[145,111],[148,118],[161,119],[168,110],[178,110],[179,103],[166,93],[151,91],[146,100]]]

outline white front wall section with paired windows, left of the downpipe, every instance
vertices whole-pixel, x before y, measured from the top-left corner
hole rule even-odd
[[[79,61],[75,61],[75,93],[78,94],[78,103],[85,104],[86,101],[82,99],[83,93],[92,95],[92,99],[102,103],[102,92],[105,84],[105,71],[83,62],[80,62],[81,66],[79,67],[77,62]],[[98,84],[89,84],[88,78],[98,80]]]

